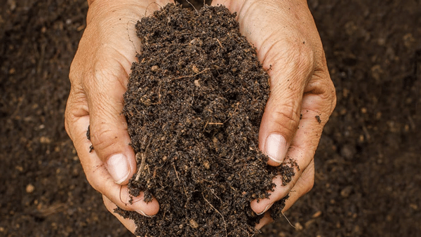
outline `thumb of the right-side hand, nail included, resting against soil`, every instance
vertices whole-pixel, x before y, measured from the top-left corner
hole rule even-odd
[[[305,86],[313,72],[307,50],[286,48],[290,48],[286,54],[272,57],[276,60],[271,60],[274,64],[268,71],[271,93],[260,123],[260,149],[269,156],[269,165],[279,165],[287,154],[300,123]]]

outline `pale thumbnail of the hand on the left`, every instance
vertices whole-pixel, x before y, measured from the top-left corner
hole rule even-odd
[[[107,161],[107,170],[114,182],[117,184],[124,182],[130,175],[130,166],[126,156],[123,156],[123,154],[111,156]]]

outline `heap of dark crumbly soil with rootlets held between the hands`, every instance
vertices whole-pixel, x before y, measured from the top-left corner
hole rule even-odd
[[[169,4],[136,25],[142,50],[124,95],[123,114],[138,173],[133,196],[156,198],[154,217],[134,219],[138,236],[253,236],[250,201],[267,198],[295,163],[267,165],[258,131],[269,96],[262,69],[235,15],[223,6],[191,11]],[[285,198],[275,203],[279,217]]]

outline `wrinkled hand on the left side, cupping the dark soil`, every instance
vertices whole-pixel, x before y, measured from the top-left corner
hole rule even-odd
[[[159,203],[143,201],[143,194],[129,203],[128,179],[136,171],[129,145],[126,118],[121,114],[128,74],[136,60],[140,39],[135,23],[169,0],[91,1],[86,29],[70,67],[72,88],[67,100],[65,126],[86,173],[88,182],[102,194],[107,209],[155,215]],[[86,137],[90,126],[91,141]],[[93,145],[93,151],[89,147]],[[134,222],[116,215],[134,231]]]

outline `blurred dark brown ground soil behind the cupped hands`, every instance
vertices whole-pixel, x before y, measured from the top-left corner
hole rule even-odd
[[[338,105],[314,188],[286,212],[295,228],[281,219],[261,236],[421,236],[421,2],[309,6]],[[87,10],[0,0],[0,236],[132,236],[86,181],[63,125]]]

